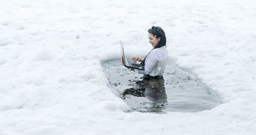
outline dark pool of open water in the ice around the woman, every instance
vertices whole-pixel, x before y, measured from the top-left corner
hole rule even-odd
[[[211,109],[220,99],[193,74],[178,66],[166,65],[164,80],[142,81],[141,74],[130,72],[120,59],[102,61],[111,86],[134,111],[165,113],[193,112]]]

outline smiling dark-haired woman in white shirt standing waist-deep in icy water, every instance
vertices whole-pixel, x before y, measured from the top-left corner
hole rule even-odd
[[[148,39],[153,49],[145,58],[133,57],[134,62],[142,62],[145,70],[130,69],[138,74],[144,74],[144,80],[163,79],[165,70],[167,49],[166,37],[162,28],[153,26],[148,29]],[[123,63],[123,60],[122,60]],[[128,68],[129,69],[129,68]]]

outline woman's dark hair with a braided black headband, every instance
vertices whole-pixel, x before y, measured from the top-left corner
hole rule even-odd
[[[160,41],[158,42],[157,46],[154,49],[161,48],[162,46],[166,46],[165,33],[161,27],[152,26],[152,28],[148,29],[147,31],[148,33],[153,34],[156,38],[161,37]]]

